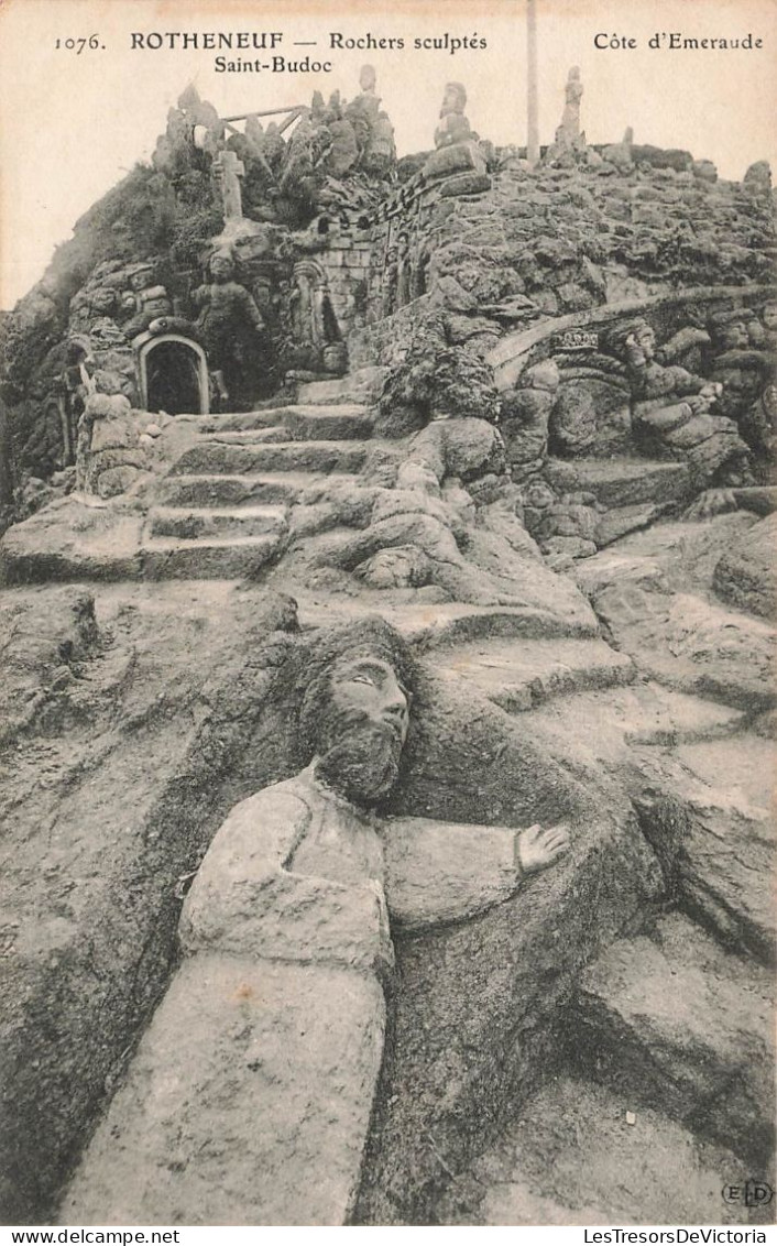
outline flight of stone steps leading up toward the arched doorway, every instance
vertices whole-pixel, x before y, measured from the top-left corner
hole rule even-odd
[[[255,572],[278,556],[289,510],[321,480],[351,478],[372,425],[356,402],[181,416],[194,434],[148,512],[141,554],[151,579]]]

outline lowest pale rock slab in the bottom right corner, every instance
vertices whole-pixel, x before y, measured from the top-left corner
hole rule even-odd
[[[636,1110],[634,1110],[636,1109]],[[626,1113],[631,1115],[626,1118]],[[623,1091],[557,1075],[436,1206],[442,1225],[741,1225],[721,1189],[751,1174]],[[767,1209],[768,1211],[768,1209]]]

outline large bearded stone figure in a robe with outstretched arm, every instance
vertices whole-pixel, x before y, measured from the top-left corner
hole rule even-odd
[[[314,649],[298,688],[311,760],[237,805],[208,849],[181,917],[183,961],[67,1222],[346,1222],[382,1060],[390,922],[474,917],[568,847],[562,826],[380,815],[416,679],[379,618]]]

